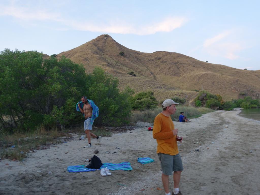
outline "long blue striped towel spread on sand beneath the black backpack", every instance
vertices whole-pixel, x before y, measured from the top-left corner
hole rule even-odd
[[[113,163],[104,163],[101,168],[107,167],[109,170],[133,170],[130,162],[121,162],[118,164],[113,164]],[[67,171],[68,172],[88,172],[88,171],[96,171],[100,169],[92,169],[92,168],[86,168],[86,165],[73,165],[73,166],[68,166]]]

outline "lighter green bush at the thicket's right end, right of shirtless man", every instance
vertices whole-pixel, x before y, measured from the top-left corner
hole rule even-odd
[[[131,114],[129,98],[132,97],[133,90],[126,88],[119,92],[118,79],[98,67],[88,75],[87,80],[89,88],[85,94],[99,107],[100,114],[95,123],[112,126],[126,123],[126,118]]]

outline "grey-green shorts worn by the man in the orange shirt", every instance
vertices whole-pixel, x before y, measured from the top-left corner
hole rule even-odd
[[[170,155],[158,153],[161,161],[162,173],[165,175],[172,175],[173,171],[183,171],[180,154]]]

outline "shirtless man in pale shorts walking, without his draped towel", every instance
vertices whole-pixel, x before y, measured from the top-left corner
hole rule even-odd
[[[85,116],[85,122],[84,122],[84,131],[88,137],[88,144],[84,146],[84,148],[91,148],[91,137],[94,137],[97,139],[98,142],[101,140],[101,136],[96,136],[94,133],[91,133],[90,131],[92,130],[92,124],[91,124],[91,117],[92,117],[92,110],[93,108],[90,106],[88,103],[88,99],[86,96],[83,96],[81,98],[81,101],[84,103],[83,109],[80,107],[80,104],[78,104],[80,111],[84,114]]]

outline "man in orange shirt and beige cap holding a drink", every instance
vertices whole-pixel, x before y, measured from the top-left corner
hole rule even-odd
[[[165,195],[171,195],[169,190],[169,175],[173,172],[174,189],[172,194],[182,195],[179,191],[180,175],[183,171],[181,157],[178,151],[177,140],[182,141],[182,137],[178,137],[178,129],[174,129],[171,114],[176,112],[176,103],[171,99],[167,99],[162,103],[162,112],[154,119],[153,138],[157,141],[157,154],[161,161],[162,184],[164,186]]]

